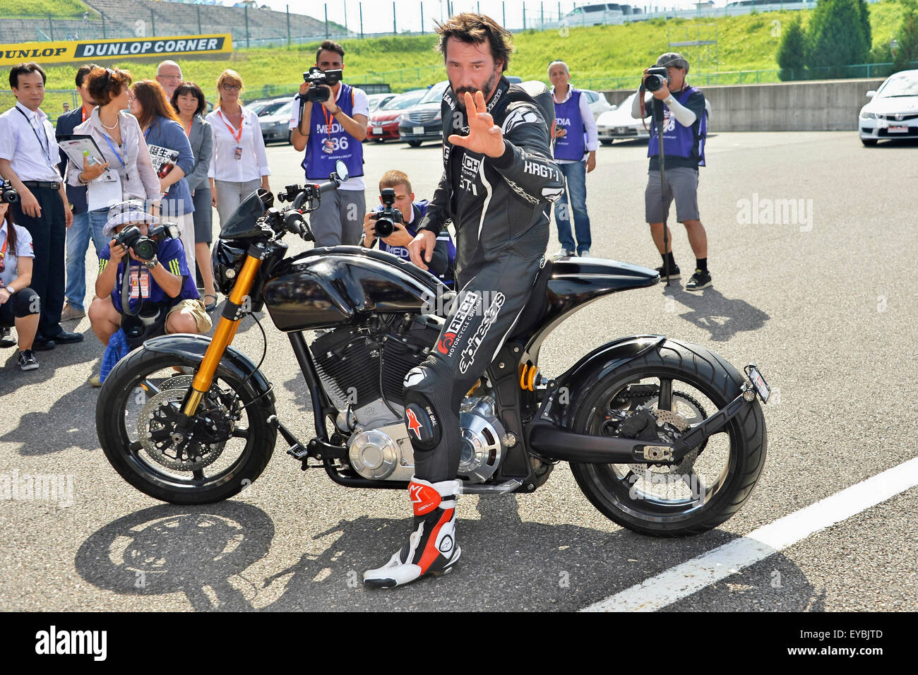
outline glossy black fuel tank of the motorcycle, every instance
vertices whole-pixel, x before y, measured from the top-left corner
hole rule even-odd
[[[445,287],[391,253],[360,246],[312,249],[278,264],[264,303],[281,331],[361,321],[369,313],[419,312]]]

